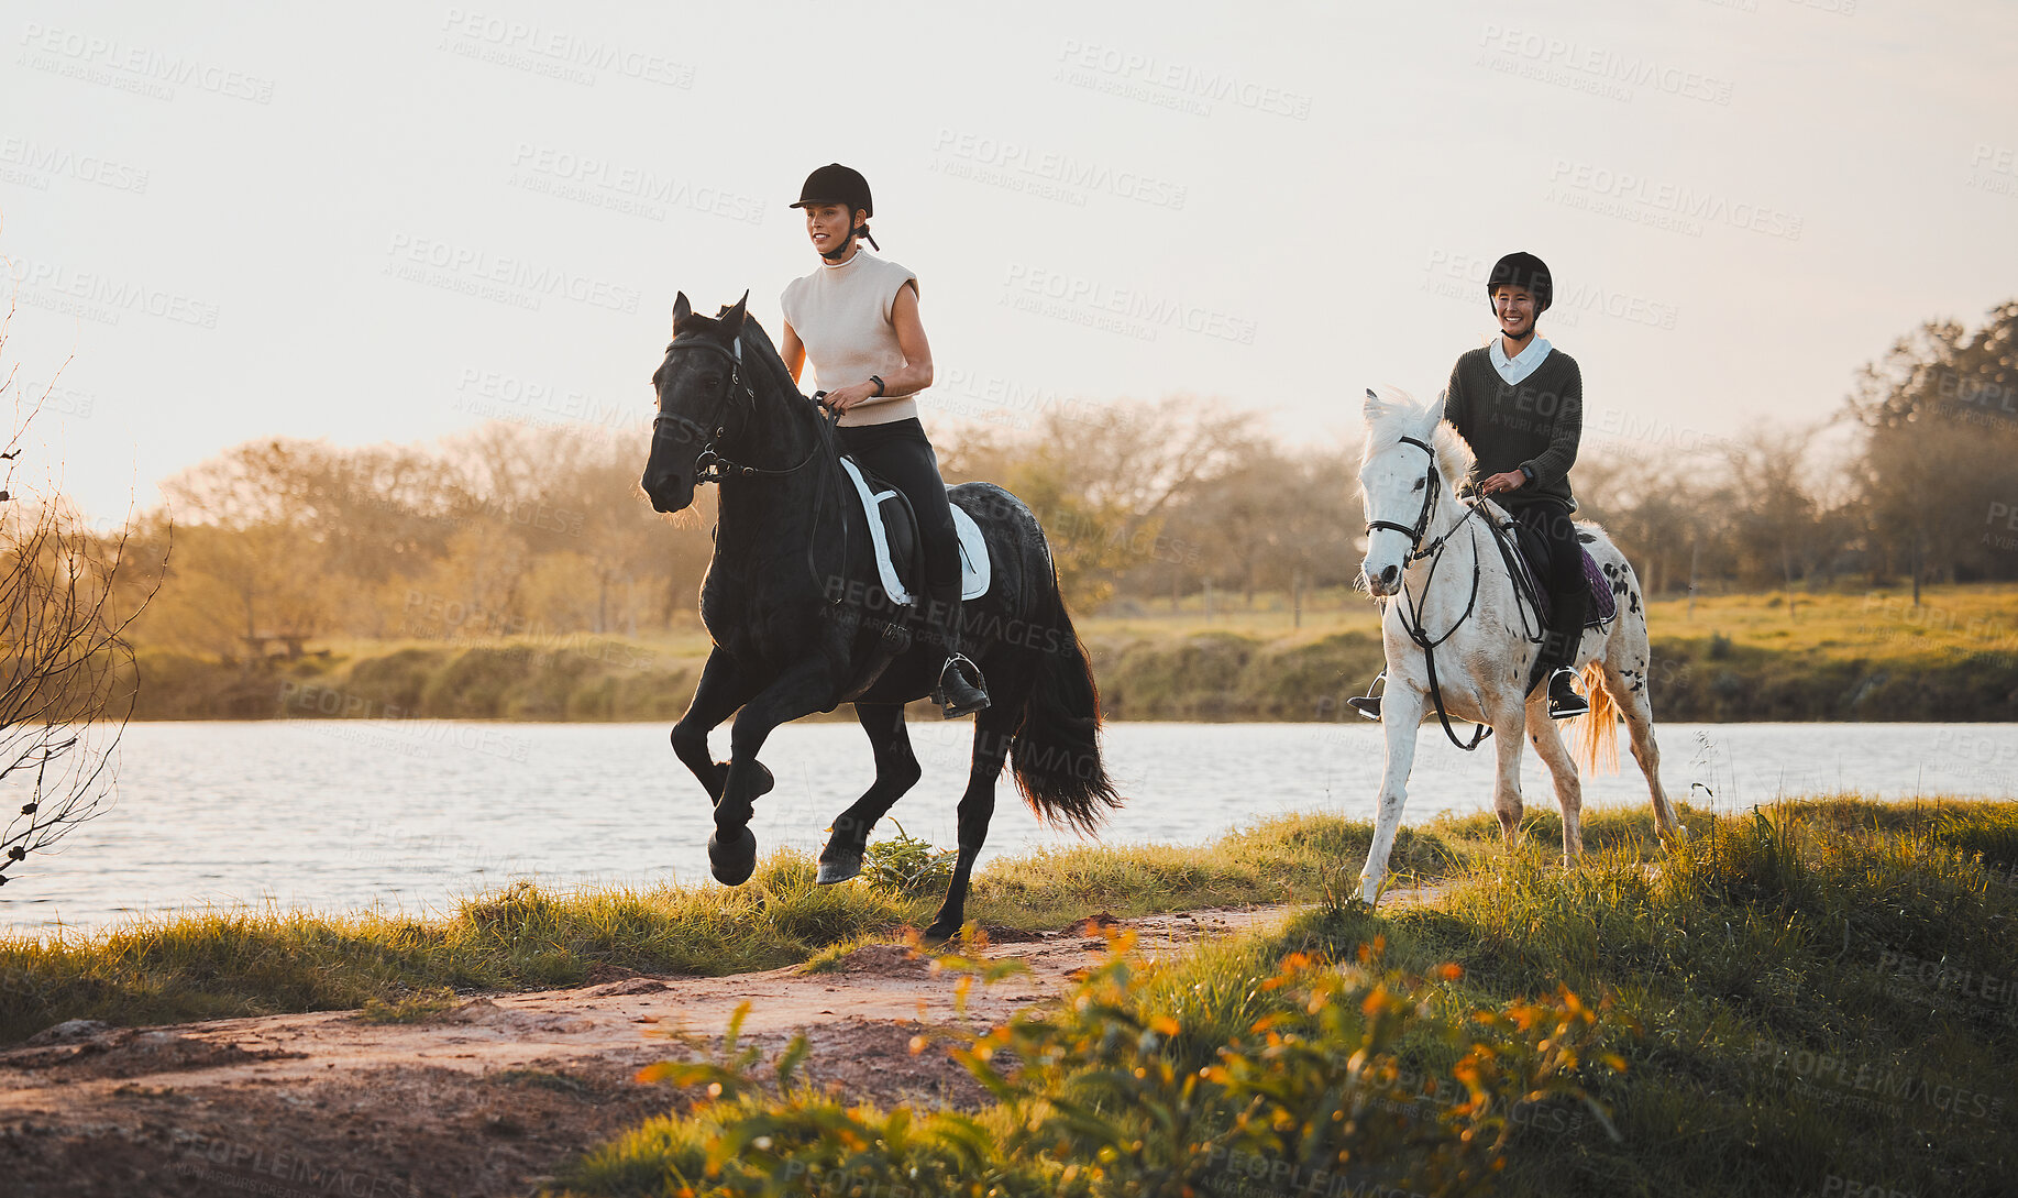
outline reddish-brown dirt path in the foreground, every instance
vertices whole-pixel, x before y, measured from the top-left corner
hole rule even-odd
[[[1390,903],[1419,901],[1394,895]],[[1156,956],[1277,925],[1287,907],[1118,921]],[[1027,976],[977,986],[969,1022],[1053,996],[1098,960],[1092,917],[1070,931],[991,943]],[[1112,919],[1106,919],[1112,921]],[[809,1073],[850,1095],[979,1105],[973,1081],[920,1026],[955,1020],[955,980],[900,945],[837,970],[603,980],[474,998],[424,1022],[355,1012],[230,1018],[161,1028],[61,1024],[0,1053],[0,1178],[14,1198],[529,1194],[569,1154],[670,1105],[632,1075],[678,1055],[662,1032],[718,1034],[751,1002],[745,1034],[811,1042]]]

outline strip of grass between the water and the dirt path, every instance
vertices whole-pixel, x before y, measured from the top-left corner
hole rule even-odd
[[[967,913],[989,927],[1063,927],[1094,911],[1140,915],[1314,901],[1368,824],[1281,816],[1197,846],[1078,846],[1001,859]],[[1441,840],[1405,832],[1396,869],[1437,869]],[[579,986],[597,964],[652,974],[737,974],[823,947],[922,927],[942,893],[858,879],[821,887],[801,853],[773,853],[735,889],[543,889],[472,897],[446,919],[206,909],[93,935],[0,941],[0,1042],[67,1018],[149,1024],[242,1014],[391,1012],[414,994]],[[424,1012],[422,1012],[424,1014]]]

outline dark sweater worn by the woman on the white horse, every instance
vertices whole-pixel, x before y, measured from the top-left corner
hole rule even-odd
[[[1443,416],[1479,457],[1471,483],[1522,467],[1534,471],[1534,483],[1495,501],[1556,499],[1576,511],[1570,467],[1584,434],[1584,374],[1574,358],[1552,347],[1534,374],[1509,386],[1485,345],[1459,354]]]

